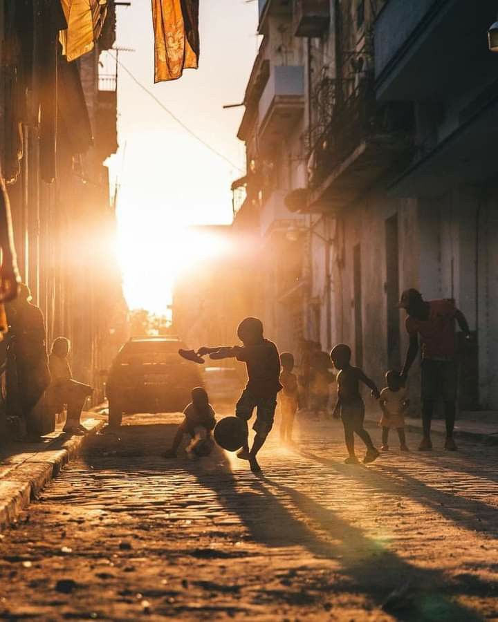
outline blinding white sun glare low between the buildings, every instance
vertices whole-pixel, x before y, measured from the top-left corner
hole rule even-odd
[[[118,219],[118,258],[130,310],[168,316],[178,279],[230,250],[225,237],[172,220],[167,210]]]

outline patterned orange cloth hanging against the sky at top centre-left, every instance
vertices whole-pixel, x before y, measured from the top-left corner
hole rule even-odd
[[[199,0],[152,0],[154,82],[199,67]]]

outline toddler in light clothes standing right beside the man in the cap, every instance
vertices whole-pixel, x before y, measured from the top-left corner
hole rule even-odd
[[[405,413],[409,399],[407,390],[401,386],[398,372],[389,370],[386,374],[387,387],[380,391],[380,408],[382,408],[382,451],[389,451],[389,429],[396,428],[400,440],[401,451],[409,451],[405,437]]]

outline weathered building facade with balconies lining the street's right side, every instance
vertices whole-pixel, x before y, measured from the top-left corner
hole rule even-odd
[[[461,348],[460,407],[497,409],[498,164],[491,150],[498,57],[486,41],[496,6],[412,4],[260,0],[263,40],[239,131],[248,198],[234,223],[243,210],[264,218],[264,193],[251,189],[250,167],[264,153],[255,138],[265,127],[265,93],[275,91],[279,74],[302,66],[299,116],[284,113],[289,125],[275,135],[278,158],[263,157],[268,185],[282,193],[279,209],[296,219],[286,237],[302,236],[303,336],[324,347],[349,343],[356,364],[382,383],[407,348],[400,292],[454,298],[474,337]],[[267,304],[275,326],[292,330],[287,309]],[[414,366],[414,411],[418,381]]]

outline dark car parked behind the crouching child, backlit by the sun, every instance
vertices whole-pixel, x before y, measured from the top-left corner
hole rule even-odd
[[[127,341],[107,378],[109,425],[123,414],[183,411],[194,386],[203,386],[199,367],[178,356],[185,343],[176,337],[142,337]]]

